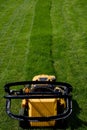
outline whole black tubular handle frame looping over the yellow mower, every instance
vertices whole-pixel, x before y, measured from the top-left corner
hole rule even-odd
[[[48,84],[58,87],[64,87],[64,94],[59,94],[58,92],[30,92],[27,95],[22,92],[20,89],[19,91],[12,90],[13,86],[18,85],[38,85],[38,84]],[[52,82],[52,81],[22,81],[22,82],[13,82],[8,83],[4,86],[5,92],[7,93],[4,98],[6,99],[6,113],[14,119],[20,120],[20,121],[52,121],[52,120],[61,120],[66,119],[71,115],[72,113],[72,95],[70,92],[72,92],[72,86],[68,83],[64,82]],[[16,93],[13,94],[13,93]],[[12,99],[45,99],[45,98],[64,98],[66,99],[66,110],[62,114],[58,114],[56,116],[48,116],[48,117],[28,117],[28,116],[22,116],[22,115],[16,115],[11,112],[11,100]]]

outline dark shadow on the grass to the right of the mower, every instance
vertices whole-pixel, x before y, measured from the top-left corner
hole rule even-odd
[[[81,110],[82,109],[79,107],[78,103],[75,100],[73,100],[73,112],[68,122],[68,125],[71,128],[71,130],[76,130],[79,127],[82,127],[83,125],[87,126],[87,121],[83,121],[78,117]]]

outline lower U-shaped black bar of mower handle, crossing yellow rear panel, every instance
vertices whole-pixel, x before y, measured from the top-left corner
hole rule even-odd
[[[48,117],[28,117],[28,116],[22,116],[22,115],[16,115],[11,113],[10,111],[11,108],[11,99],[6,100],[6,113],[13,119],[17,119],[20,121],[33,121],[33,122],[38,122],[38,121],[52,121],[52,120],[61,120],[61,119],[66,119],[71,113],[72,113],[72,101],[71,98],[67,98],[67,107],[66,111],[62,114],[58,114],[56,116],[48,116]]]

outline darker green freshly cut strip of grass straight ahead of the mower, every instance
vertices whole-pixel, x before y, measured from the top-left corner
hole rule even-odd
[[[50,47],[52,42],[50,7],[51,0],[43,2],[39,0],[36,5],[35,20],[30,39],[30,53],[28,55],[28,79],[32,79],[34,75],[41,73],[54,73]]]

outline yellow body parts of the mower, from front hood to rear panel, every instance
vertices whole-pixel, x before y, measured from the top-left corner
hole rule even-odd
[[[33,81],[55,81],[56,78],[53,75],[37,75],[33,78]],[[43,87],[43,85],[40,84]],[[47,84],[45,85],[47,86]],[[24,91],[27,93],[31,91],[35,86],[32,85],[31,89],[25,88]],[[60,89],[58,86],[56,89]],[[60,108],[66,107],[65,99],[63,98],[52,98],[52,99],[23,99],[22,107],[26,108],[28,104],[28,115],[30,117],[46,117],[46,116],[56,116],[58,114],[58,106]],[[55,126],[56,121],[47,121],[47,122],[30,122],[31,126]]]

